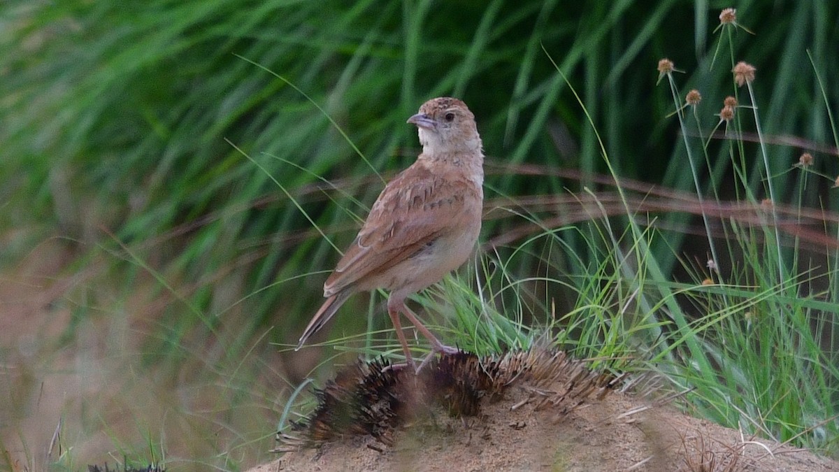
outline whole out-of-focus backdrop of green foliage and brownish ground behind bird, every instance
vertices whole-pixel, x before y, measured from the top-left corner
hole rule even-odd
[[[748,31],[714,33],[727,7]],[[357,357],[289,346],[336,248],[418,154],[405,120],[431,97],[477,117],[488,253],[586,223],[579,195],[608,200],[613,171],[638,202],[670,202],[642,210],[668,236],[653,244],[664,273],[705,264],[701,218],[674,197],[696,192],[664,57],[682,101],[702,94],[690,139],[709,141],[702,181],[721,201],[742,195],[708,178],[734,171],[709,136],[748,60],[776,199],[835,211],[836,18],[837,3],[794,1],[3,3],[0,463],[268,459],[291,391]],[[805,150],[819,176],[802,183]],[[507,270],[538,271],[531,255]],[[586,265],[558,257],[563,273]],[[555,312],[575,307],[555,291]],[[315,344],[362,335],[370,303],[353,297]]]

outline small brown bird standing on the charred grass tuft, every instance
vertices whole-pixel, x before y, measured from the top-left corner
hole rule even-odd
[[[326,279],[326,302],[300,336],[297,349],[353,293],[383,288],[390,291],[388,314],[409,365],[415,369],[400,312],[428,338],[434,352],[456,351],[420,323],[405,306],[405,298],[440,281],[472,254],[481,232],[481,137],[475,116],[456,98],[425,102],[408,123],[419,128],[422,154],[373,203],[356,240]]]

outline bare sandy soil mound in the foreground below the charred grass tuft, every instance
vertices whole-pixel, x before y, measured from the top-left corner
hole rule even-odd
[[[387,447],[373,438],[346,438],[285,454],[250,472],[274,470],[839,470],[808,451],[743,438],[735,430],[649,406],[613,392],[567,417],[534,411],[529,393],[513,387],[478,417],[442,412],[430,424],[397,433]],[[649,406],[649,407],[648,407]],[[634,413],[633,413],[634,412]],[[436,423],[436,424],[434,424]]]

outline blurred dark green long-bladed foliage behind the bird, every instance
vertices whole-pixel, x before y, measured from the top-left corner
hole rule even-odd
[[[701,91],[707,131],[732,94],[732,62],[748,60],[758,68],[763,133],[779,142],[769,147],[779,199],[801,195],[806,206],[836,208],[829,183],[804,188],[786,170],[809,149],[814,169],[839,174],[826,113],[839,109],[839,3],[740,2],[739,22],[754,34],[738,29],[731,45],[712,33],[730,6],[3,3],[0,263],[57,236],[77,256],[70,271],[95,266],[99,283],[125,297],[154,274],[173,302],[159,306],[171,316],[155,325],[164,349],[150,349],[149,360],[188,355],[183,347],[201,345],[207,333],[233,333],[220,354],[231,358],[268,326],[279,327],[271,340],[293,341],[320,303],[322,272],[337,259],[332,244],[352,239],[383,179],[417,154],[415,130],[404,121],[430,97],[461,97],[476,114],[490,207],[604,188],[591,179],[607,173],[597,137],[551,58],[579,92],[618,176],[689,192],[673,102],[656,86],[656,64],[670,58],[684,71],[677,74],[683,91]],[[827,103],[816,73],[826,79]],[[744,148],[757,163],[757,144]],[[718,175],[731,172],[728,149],[711,141]],[[539,176],[519,171],[525,164],[581,174]],[[763,196],[760,166],[752,168],[749,181]],[[734,197],[719,185],[722,199]],[[680,231],[685,215],[661,218],[673,238],[652,246],[668,275],[679,270],[675,254],[704,257],[701,239],[691,247]],[[489,219],[484,240],[519,223]],[[567,270],[580,275],[585,243],[569,236],[563,249],[579,249]],[[505,269],[527,275],[539,254],[531,260]],[[79,317],[100,296],[86,295]],[[349,304],[363,307],[356,298]]]

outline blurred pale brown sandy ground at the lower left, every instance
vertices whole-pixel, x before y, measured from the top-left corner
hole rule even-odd
[[[256,333],[227,362],[218,344],[186,339],[178,362],[150,363],[147,340],[178,321],[159,315],[172,302],[148,281],[118,291],[107,273],[74,272],[68,260],[49,239],[0,271],[0,470],[124,459],[238,470],[271,457],[290,389],[276,345]],[[228,324],[232,338],[241,324]]]

